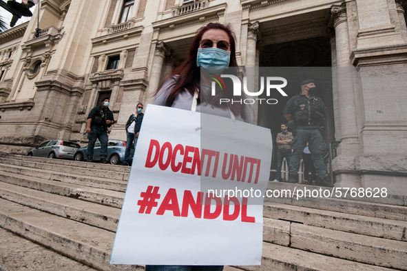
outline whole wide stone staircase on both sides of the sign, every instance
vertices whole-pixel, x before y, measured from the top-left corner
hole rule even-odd
[[[109,264],[129,170],[0,153],[0,227],[96,270],[143,269]],[[294,187],[305,186],[269,183]],[[394,195],[267,198],[262,265],[225,270],[407,270],[406,205]]]

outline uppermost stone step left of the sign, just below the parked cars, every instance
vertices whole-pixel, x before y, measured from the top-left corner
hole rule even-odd
[[[100,177],[127,181],[129,179],[129,167],[122,165],[95,164],[60,159],[48,159],[41,157],[3,157],[0,162],[3,164],[19,165],[26,168],[36,168],[38,170],[49,170],[53,172],[77,174],[81,176]]]

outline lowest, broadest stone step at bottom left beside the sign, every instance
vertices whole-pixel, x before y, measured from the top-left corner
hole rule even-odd
[[[140,265],[110,265],[114,232],[56,217],[0,199],[0,227],[103,271],[139,270]]]

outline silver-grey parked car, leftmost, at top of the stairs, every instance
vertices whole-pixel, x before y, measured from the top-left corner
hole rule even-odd
[[[36,145],[28,152],[29,156],[74,159],[76,150],[81,148],[77,143],[64,140],[50,140]]]

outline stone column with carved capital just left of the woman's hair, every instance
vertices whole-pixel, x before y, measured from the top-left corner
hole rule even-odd
[[[163,41],[156,43],[156,52],[154,53],[152,72],[149,76],[149,87],[147,90],[147,97],[145,99],[146,105],[147,103],[152,103],[154,101],[154,92],[156,92],[158,86],[160,86],[161,72],[163,70],[163,63],[167,54],[169,54],[169,49],[165,43],[163,43]]]

